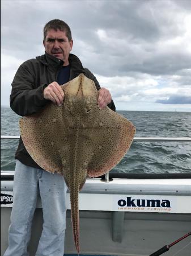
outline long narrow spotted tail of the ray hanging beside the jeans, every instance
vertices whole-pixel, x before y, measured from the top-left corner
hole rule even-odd
[[[75,247],[79,255],[79,208],[78,208],[78,192],[79,189],[70,191],[70,203],[71,203],[71,222],[73,225],[73,237]]]

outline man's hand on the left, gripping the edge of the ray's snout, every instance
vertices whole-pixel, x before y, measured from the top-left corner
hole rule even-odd
[[[52,101],[54,104],[61,106],[63,104],[63,99],[65,94],[61,86],[57,82],[51,82],[45,89],[44,89],[44,98],[46,100]]]

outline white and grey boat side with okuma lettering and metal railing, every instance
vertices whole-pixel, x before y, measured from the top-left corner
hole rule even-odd
[[[2,136],[1,139],[19,137]],[[191,138],[135,137],[134,141]],[[1,171],[1,255],[8,246],[14,171]],[[79,192],[80,255],[148,256],[191,231],[191,172],[116,174],[87,179]],[[34,256],[43,226],[40,197],[28,251]],[[190,256],[191,236],[165,255]],[[65,255],[77,254],[67,192]],[[160,254],[153,254],[160,255]]]

